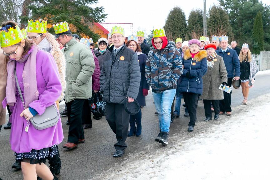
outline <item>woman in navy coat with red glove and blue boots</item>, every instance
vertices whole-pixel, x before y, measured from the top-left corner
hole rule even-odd
[[[140,64],[140,87],[139,93],[136,98],[140,106],[145,106],[145,96],[148,95],[149,85],[147,84],[146,77],[145,77],[145,64],[147,60],[146,54],[143,54],[140,49],[140,45],[135,40],[129,40],[126,46],[132,50],[134,50],[138,55],[138,60]],[[137,125],[137,128],[135,126]],[[140,136],[141,135],[141,110],[135,114],[130,115],[130,131],[128,136],[132,135]]]

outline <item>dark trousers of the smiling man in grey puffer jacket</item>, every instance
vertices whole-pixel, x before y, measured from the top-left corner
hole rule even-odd
[[[116,134],[116,150],[124,150],[128,136],[130,115],[125,111],[124,104],[106,103],[106,120]]]

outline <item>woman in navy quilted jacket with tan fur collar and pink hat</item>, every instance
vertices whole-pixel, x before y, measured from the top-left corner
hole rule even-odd
[[[196,122],[197,102],[202,94],[202,76],[207,72],[206,50],[200,50],[200,41],[191,39],[189,49],[183,56],[183,74],[180,83],[180,92],[184,95],[187,111],[190,116],[188,131],[193,131]]]

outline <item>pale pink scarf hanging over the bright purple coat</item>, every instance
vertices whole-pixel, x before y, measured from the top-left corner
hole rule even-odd
[[[36,59],[38,53],[38,46],[33,45],[28,54],[18,60],[18,63],[24,63],[23,69],[23,92],[24,92],[24,103],[25,108],[28,108],[29,104],[34,100],[38,100],[38,87],[37,87],[37,74],[36,74]],[[16,103],[16,80],[14,76],[16,61],[9,59],[7,65],[8,80],[6,88],[6,97],[9,105],[14,106]]]

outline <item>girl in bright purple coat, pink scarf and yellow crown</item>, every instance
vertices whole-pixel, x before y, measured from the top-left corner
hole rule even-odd
[[[64,138],[61,120],[44,130],[35,129],[28,121],[36,114],[42,115],[61,95],[57,65],[51,54],[39,50],[33,41],[23,39],[17,24],[8,21],[2,27],[0,43],[7,55],[5,64],[8,71],[3,106],[9,104],[12,111],[11,149],[17,153],[16,159],[21,164],[24,179],[37,179],[37,175],[44,180],[58,179],[44,163],[48,157],[57,155],[56,145]],[[15,68],[25,108],[16,85]]]

